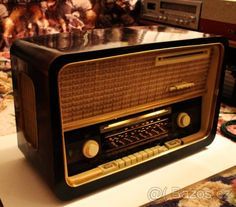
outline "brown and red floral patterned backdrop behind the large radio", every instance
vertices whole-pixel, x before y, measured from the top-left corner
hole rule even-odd
[[[0,0],[0,111],[12,99],[9,49],[17,38],[137,24],[138,0]]]

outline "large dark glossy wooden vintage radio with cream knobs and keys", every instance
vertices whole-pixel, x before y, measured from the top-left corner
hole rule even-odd
[[[16,40],[18,146],[61,199],[212,142],[225,40],[164,26]]]

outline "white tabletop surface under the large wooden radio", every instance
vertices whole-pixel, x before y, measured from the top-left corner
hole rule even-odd
[[[0,198],[4,207],[139,206],[236,165],[236,143],[216,136],[207,148],[154,171],[70,201],[59,201],[17,148],[0,136]]]

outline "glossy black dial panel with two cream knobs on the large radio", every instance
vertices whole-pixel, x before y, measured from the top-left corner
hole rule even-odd
[[[166,143],[197,133],[201,122],[201,101],[201,98],[195,98],[116,121],[65,132],[68,175],[91,170],[115,159],[130,157],[152,146],[162,146],[165,149]],[[104,130],[104,126],[111,128]],[[180,139],[178,141],[182,143]]]

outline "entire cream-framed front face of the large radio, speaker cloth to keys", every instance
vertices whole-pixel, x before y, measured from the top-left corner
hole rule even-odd
[[[168,153],[189,135],[196,135],[190,142],[206,137],[212,123],[202,120],[215,105],[205,99],[215,90],[209,76],[220,50],[198,45],[65,65],[58,92],[68,185],[154,159],[155,147]]]

